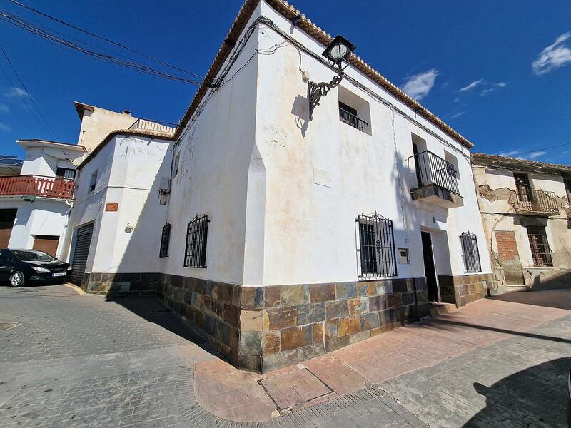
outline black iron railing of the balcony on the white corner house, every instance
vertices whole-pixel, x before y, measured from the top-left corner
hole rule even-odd
[[[456,168],[452,163],[428,150],[411,157],[415,159],[419,188],[433,184],[460,195]]]

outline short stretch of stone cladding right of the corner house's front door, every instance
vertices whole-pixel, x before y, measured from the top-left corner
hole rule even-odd
[[[491,273],[474,275],[438,275],[440,297],[443,302],[463,307],[468,303],[483,299],[488,286],[494,287],[494,275]]]

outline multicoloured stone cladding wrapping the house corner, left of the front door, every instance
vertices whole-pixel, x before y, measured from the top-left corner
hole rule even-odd
[[[270,372],[429,315],[425,278],[245,287],[156,273],[87,274],[105,295],[155,294],[233,365]]]

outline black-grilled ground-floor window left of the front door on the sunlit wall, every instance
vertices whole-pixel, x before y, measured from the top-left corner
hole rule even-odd
[[[393,222],[377,213],[357,219],[358,277],[375,280],[397,275]]]

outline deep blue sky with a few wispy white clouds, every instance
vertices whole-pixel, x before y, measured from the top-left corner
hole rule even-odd
[[[242,4],[238,0],[22,2],[200,75],[208,70]],[[343,34],[352,41],[361,58],[473,141],[474,151],[571,164],[568,0],[292,2],[330,34]],[[7,0],[0,9],[119,52]],[[196,86],[62,49],[4,21],[0,21],[0,44],[29,90],[25,93],[0,53],[0,66],[16,86],[11,87],[0,73],[2,154],[23,154],[16,138],[54,139],[20,96],[33,99],[58,141],[75,143],[79,118],[74,100],[176,122],[196,91]],[[542,150],[561,144],[567,146]]]

